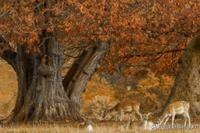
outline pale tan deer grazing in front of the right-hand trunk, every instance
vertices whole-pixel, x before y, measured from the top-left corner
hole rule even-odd
[[[189,108],[190,104],[186,101],[176,101],[167,107],[166,111],[161,117],[160,124],[161,125],[164,122],[164,125],[167,123],[170,117],[172,117],[172,128],[174,127],[174,119],[176,115],[183,115],[185,119],[184,126],[187,124],[188,120],[188,126],[190,127],[190,115],[189,115]]]

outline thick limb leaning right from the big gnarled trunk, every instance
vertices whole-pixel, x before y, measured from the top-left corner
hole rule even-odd
[[[85,86],[98,68],[108,48],[109,43],[98,42],[84,50],[63,80],[63,85],[69,98],[76,103],[79,109]]]

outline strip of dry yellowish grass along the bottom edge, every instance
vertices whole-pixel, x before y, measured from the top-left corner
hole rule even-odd
[[[69,125],[18,125],[18,126],[8,126],[1,127],[1,133],[87,133],[86,128],[80,128],[76,126]],[[146,131],[137,126],[131,129],[125,129],[122,125],[112,124],[110,126],[100,125],[94,126],[95,133],[199,133],[199,129],[171,129],[171,130],[153,130]]]

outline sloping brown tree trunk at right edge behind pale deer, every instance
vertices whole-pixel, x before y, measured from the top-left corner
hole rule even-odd
[[[180,59],[180,70],[165,108],[172,100],[187,100],[193,115],[200,112],[200,36],[191,42]]]

